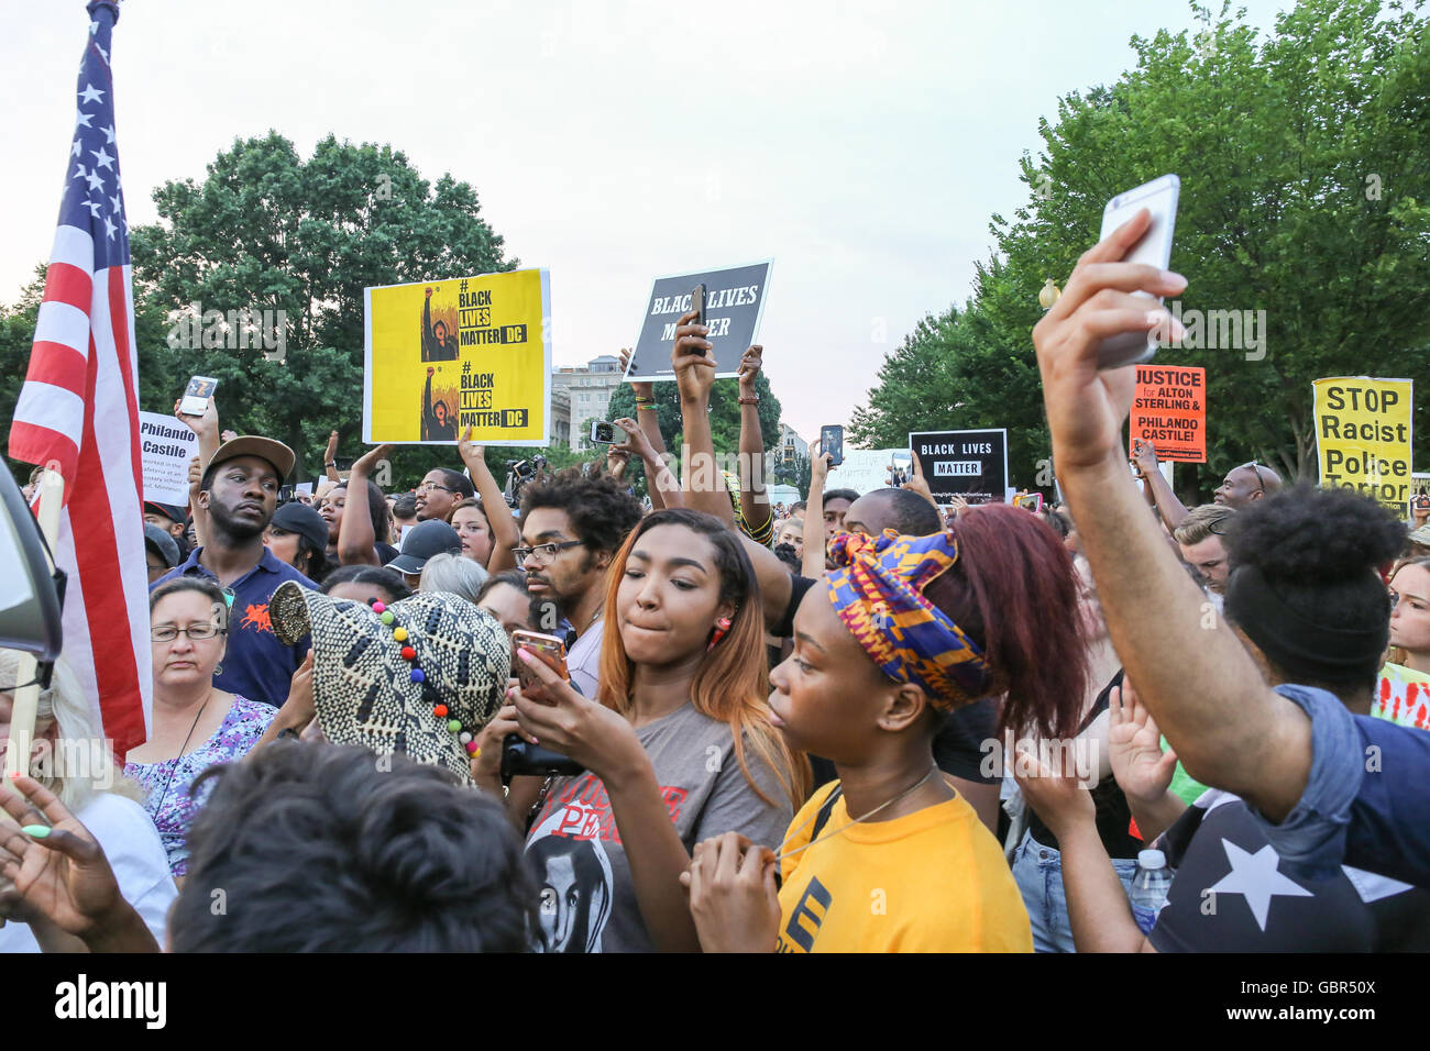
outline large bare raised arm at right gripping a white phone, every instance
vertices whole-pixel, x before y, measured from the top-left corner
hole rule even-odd
[[[1165,323],[1165,310],[1148,309],[1134,290],[1177,295],[1187,285],[1180,275],[1118,262],[1148,222],[1143,210],[1090,249],[1032,330],[1052,460],[1113,645],[1143,704],[1193,778],[1236,792],[1280,821],[1306,788],[1311,724],[1266,685],[1230,625],[1168,551],[1121,446],[1135,370],[1097,369],[1103,339]]]

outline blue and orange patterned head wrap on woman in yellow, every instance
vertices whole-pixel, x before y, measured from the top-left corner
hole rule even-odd
[[[877,541],[839,533],[829,541],[838,569],[825,576],[829,602],[874,663],[898,682],[924,688],[935,708],[952,709],[988,694],[991,671],[962,628],[922,595],[958,561],[952,532]]]

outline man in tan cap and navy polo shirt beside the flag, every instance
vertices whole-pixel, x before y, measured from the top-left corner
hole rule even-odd
[[[267,438],[225,442],[199,483],[199,509],[209,516],[207,543],[159,578],[207,576],[233,595],[229,648],[213,685],[250,701],[282,706],[307,643],[285,646],[269,623],[269,599],[285,581],[313,582],[269,553],[263,531],[277,508],[277,490],[293,469],[293,450]]]

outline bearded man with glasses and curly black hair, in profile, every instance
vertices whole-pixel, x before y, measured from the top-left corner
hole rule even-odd
[[[641,502],[613,478],[558,478],[528,485],[522,498],[516,565],[526,571],[526,588],[543,609],[541,629],[561,635],[558,616],[569,625],[566,668],[576,689],[592,699],[606,568],[639,520]]]

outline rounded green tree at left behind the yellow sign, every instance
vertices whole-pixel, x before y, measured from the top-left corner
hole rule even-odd
[[[329,136],[305,162],[270,132],[235,142],[200,183],[164,183],[154,202],[160,222],[132,230],[136,299],[172,315],[202,303],[287,319],[283,360],[184,346],[176,329],[167,389],[182,390],[190,373],[217,378],[225,426],[289,443],[307,470],[333,429],[340,455],[362,452],[365,287],[516,266],[468,183],[428,183],[390,146]],[[455,460],[455,450],[402,448],[392,482],[412,485]]]

